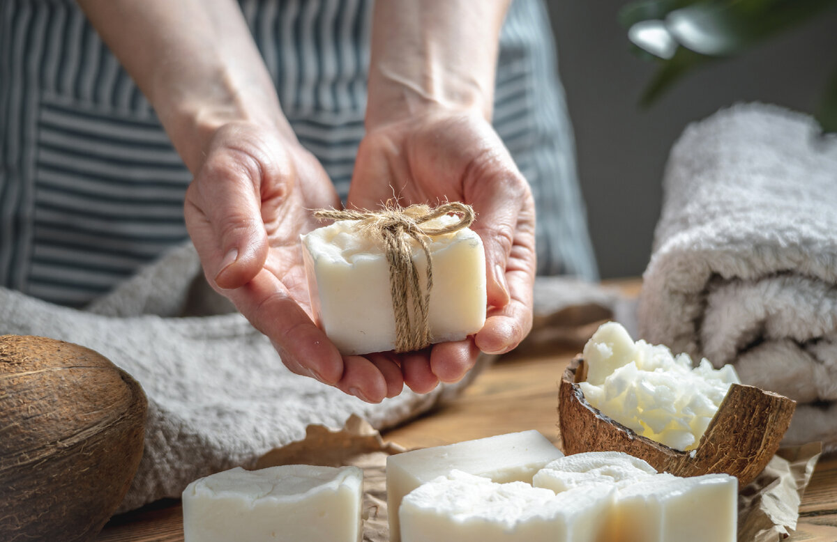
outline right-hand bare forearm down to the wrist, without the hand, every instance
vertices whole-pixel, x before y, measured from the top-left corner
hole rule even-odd
[[[367,130],[443,110],[490,120],[507,2],[375,3]]]

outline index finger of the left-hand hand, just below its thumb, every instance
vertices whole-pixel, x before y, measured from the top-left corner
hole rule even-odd
[[[291,371],[332,386],[341,381],[340,352],[275,275],[263,269],[228,294],[241,314],[270,338]]]

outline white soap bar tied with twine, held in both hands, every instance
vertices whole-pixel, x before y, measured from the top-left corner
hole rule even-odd
[[[444,216],[429,225],[456,222]],[[411,239],[413,262],[426,288],[427,258]],[[395,313],[387,258],[354,222],[341,221],[302,236],[303,256],[316,319],[343,355],[395,347]],[[469,228],[432,238],[432,342],[463,340],[485,324],[485,251]]]

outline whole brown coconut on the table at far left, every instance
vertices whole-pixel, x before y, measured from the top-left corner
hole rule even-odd
[[[0,336],[0,538],[93,539],[140,463],[146,406],[93,350]]]

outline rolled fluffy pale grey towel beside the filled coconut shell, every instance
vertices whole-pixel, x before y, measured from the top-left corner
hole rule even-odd
[[[837,140],[737,105],[673,147],[639,334],[798,401],[785,442],[837,447]]]

